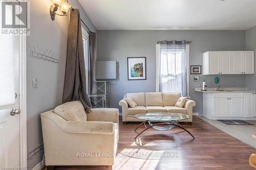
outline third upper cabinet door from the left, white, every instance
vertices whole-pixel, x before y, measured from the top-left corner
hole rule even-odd
[[[231,74],[243,74],[243,52],[231,52]]]

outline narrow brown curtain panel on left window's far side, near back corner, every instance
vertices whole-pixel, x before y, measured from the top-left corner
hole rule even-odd
[[[93,82],[96,80],[95,78],[95,65],[96,65],[96,33],[89,33],[89,79],[88,79],[88,89],[89,94],[93,93]]]

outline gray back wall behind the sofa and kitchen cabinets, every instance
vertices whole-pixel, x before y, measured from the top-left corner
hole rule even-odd
[[[118,102],[127,92],[155,91],[156,43],[161,40],[188,40],[190,45],[189,65],[202,65],[202,54],[206,51],[245,50],[245,31],[98,31],[98,58],[116,59],[118,79],[111,86],[112,107],[119,108]],[[127,57],[146,57],[147,80],[127,80]],[[194,112],[202,114],[202,93],[194,88],[203,79],[208,87],[214,84],[215,76],[202,76],[193,81],[189,75],[189,95],[197,102]],[[245,75],[219,76],[222,87],[245,87]],[[120,110],[121,112],[121,110]]]

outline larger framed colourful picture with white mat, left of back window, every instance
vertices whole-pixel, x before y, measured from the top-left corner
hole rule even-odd
[[[128,80],[146,80],[146,57],[127,57]]]

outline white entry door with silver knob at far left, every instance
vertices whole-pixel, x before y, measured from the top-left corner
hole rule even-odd
[[[13,115],[12,109],[17,109]],[[19,36],[0,35],[0,166],[3,168],[19,166],[18,109]]]

